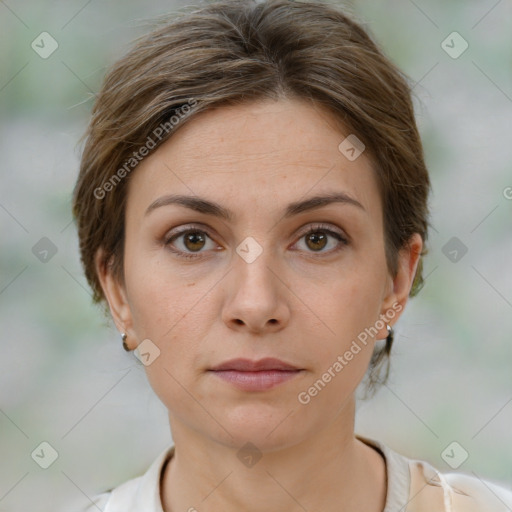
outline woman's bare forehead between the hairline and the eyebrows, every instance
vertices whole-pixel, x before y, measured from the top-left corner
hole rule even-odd
[[[328,111],[304,100],[264,100],[197,114],[133,172],[128,209],[142,214],[164,194],[207,197],[232,210],[279,209],[300,198],[345,192],[380,215],[370,159],[350,160],[350,135]]]

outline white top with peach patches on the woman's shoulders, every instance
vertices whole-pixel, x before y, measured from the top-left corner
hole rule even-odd
[[[442,474],[428,462],[413,460],[356,435],[386,461],[387,495],[383,512],[511,512],[512,490],[463,473]],[[94,499],[84,512],[163,512],[160,478],[174,454],[166,449],[147,472]]]

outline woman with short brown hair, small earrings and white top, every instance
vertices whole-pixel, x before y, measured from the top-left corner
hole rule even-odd
[[[340,10],[216,2],[138,41],[74,213],[174,444],[90,510],[510,510],[354,433],[421,287],[429,188],[406,79]]]

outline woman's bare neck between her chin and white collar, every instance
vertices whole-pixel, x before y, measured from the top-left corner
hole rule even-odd
[[[355,438],[354,415],[352,400],[321,432],[262,450],[247,465],[237,456],[243,442],[221,444],[171,419],[175,454],[162,478],[164,511],[382,512],[385,463]]]

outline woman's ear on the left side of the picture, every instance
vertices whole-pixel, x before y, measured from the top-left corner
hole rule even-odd
[[[130,346],[130,340],[132,340],[133,343],[135,337],[132,313],[125,285],[113,274],[110,263],[104,263],[104,251],[102,248],[98,249],[96,252],[94,264],[114,323],[120,333],[126,333],[128,335],[126,343]]]

